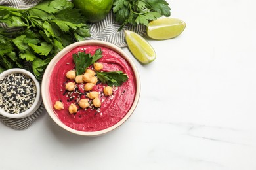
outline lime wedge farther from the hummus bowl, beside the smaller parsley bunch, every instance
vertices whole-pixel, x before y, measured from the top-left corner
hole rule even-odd
[[[148,24],[146,33],[152,39],[172,39],[180,35],[186,23],[177,18],[159,18]]]

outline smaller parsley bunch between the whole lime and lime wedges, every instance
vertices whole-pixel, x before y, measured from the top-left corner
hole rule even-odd
[[[114,0],[113,12],[116,22],[121,23],[121,30],[126,24],[147,26],[160,16],[170,16],[168,5],[165,0]]]

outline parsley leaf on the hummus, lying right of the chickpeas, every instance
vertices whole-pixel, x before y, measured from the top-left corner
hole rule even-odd
[[[102,83],[108,84],[108,86],[121,86],[123,82],[128,80],[128,76],[123,71],[109,71],[99,72],[96,71],[98,79]]]

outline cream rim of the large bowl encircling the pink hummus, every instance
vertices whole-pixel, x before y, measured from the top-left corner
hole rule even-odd
[[[99,45],[99,46],[104,46],[106,48],[110,48],[111,50],[114,50],[131,65],[131,68],[133,69],[133,73],[135,74],[137,90],[135,93],[135,99],[133,101],[133,105],[131,105],[131,108],[129,109],[127,114],[121,120],[119,120],[119,122],[117,122],[111,127],[102,129],[100,131],[78,131],[76,129],[72,129],[71,127],[66,126],[58,119],[58,117],[54,113],[53,106],[51,105],[51,100],[49,100],[50,96],[49,96],[49,90],[47,89],[47,85],[50,82],[51,71],[53,71],[55,63],[57,63],[60,60],[60,58],[62,58],[62,56],[70,52],[72,49],[76,48],[77,46],[83,46],[83,45]],[[54,58],[47,65],[47,68],[45,69],[45,73],[42,79],[41,93],[42,93],[42,99],[43,99],[43,104],[45,106],[45,109],[47,110],[49,116],[51,116],[51,118],[54,120],[54,122],[58,124],[58,126],[62,127],[63,129],[66,129],[67,131],[70,131],[71,133],[75,133],[77,135],[83,135],[83,136],[104,135],[105,133],[113,131],[117,127],[121,126],[121,124],[123,124],[131,116],[131,114],[137,107],[137,104],[139,102],[139,97],[140,97],[140,76],[137,71],[137,67],[135,63],[133,63],[133,60],[128,56],[128,54],[126,54],[123,50],[121,50],[121,48],[117,47],[116,45],[111,44],[110,42],[99,41],[99,40],[79,41],[79,42],[70,44],[69,46],[66,46],[64,49],[58,52],[58,54],[56,54],[56,56],[54,56]]]

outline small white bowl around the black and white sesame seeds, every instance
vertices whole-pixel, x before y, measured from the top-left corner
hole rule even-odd
[[[24,75],[29,76],[33,82],[35,82],[36,90],[37,90],[37,95],[35,97],[35,101],[33,102],[33,105],[26,111],[18,113],[18,114],[11,114],[9,112],[5,112],[0,107],[0,114],[7,117],[7,118],[25,118],[27,116],[30,116],[33,114],[41,105],[42,99],[41,99],[41,89],[40,89],[40,84],[35,78],[35,76],[30,73],[29,71],[26,71],[25,69],[8,69],[7,71],[4,71],[3,73],[0,74],[0,79],[4,78],[7,75],[10,75],[12,73],[22,73]]]

